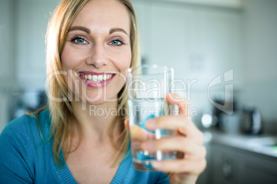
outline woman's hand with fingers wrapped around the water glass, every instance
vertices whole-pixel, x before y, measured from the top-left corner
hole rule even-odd
[[[198,175],[206,167],[206,149],[202,145],[203,133],[192,122],[188,102],[177,94],[170,95],[167,95],[166,100],[169,104],[178,105],[179,115],[163,115],[150,119],[146,128],[176,130],[177,136],[158,139],[150,145],[143,141],[141,146],[143,150],[149,151],[178,151],[176,160],[153,161],[152,166],[156,170],[166,172],[170,183],[196,183]],[[129,129],[127,122],[125,126]]]

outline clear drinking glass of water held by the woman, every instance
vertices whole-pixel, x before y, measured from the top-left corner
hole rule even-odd
[[[154,171],[153,160],[176,159],[176,152],[143,150],[143,141],[153,141],[175,136],[174,130],[148,130],[145,123],[161,115],[171,115],[173,106],[167,104],[165,95],[173,89],[174,69],[163,65],[141,65],[127,70],[127,95],[130,113],[134,169]]]

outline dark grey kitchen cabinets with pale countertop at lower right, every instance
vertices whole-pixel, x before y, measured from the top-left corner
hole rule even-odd
[[[197,184],[245,184],[277,181],[276,135],[243,135],[204,130],[207,168]]]

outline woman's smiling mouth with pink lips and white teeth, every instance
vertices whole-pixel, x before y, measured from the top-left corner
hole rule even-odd
[[[78,72],[78,75],[87,87],[102,88],[109,84],[116,74],[110,72],[81,71]]]

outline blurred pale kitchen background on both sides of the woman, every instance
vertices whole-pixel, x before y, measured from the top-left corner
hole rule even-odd
[[[198,183],[276,183],[277,0],[132,3],[143,63],[175,68],[205,135]],[[57,4],[0,1],[0,132],[47,104],[44,36]]]

